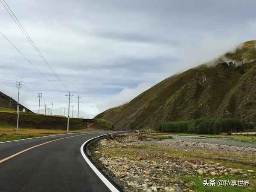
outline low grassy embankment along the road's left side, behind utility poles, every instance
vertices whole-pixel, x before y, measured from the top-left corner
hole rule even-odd
[[[16,134],[17,113],[0,112],[0,142],[67,133],[67,117],[20,112]],[[113,129],[101,119],[70,118],[69,132],[94,132]]]

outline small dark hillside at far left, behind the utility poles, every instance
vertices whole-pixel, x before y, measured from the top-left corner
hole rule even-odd
[[[9,97],[8,95],[5,95],[3,92],[0,92],[0,107],[9,109],[10,103],[11,109],[17,110],[17,101],[14,100],[12,97]],[[20,104],[20,111],[22,111],[23,108],[25,108],[26,112],[32,112],[31,110]]]

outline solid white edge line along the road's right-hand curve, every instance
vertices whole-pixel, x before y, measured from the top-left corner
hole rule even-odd
[[[105,134],[105,135],[111,135],[111,134],[115,134],[115,133],[121,133],[121,132],[113,132],[113,133],[108,133],[108,134]],[[108,181],[107,178],[105,178],[104,175],[102,175],[102,173],[93,165],[93,163],[87,158],[87,156],[85,155],[84,153],[84,145],[86,143],[88,143],[90,140],[93,140],[93,139],[96,139],[96,138],[99,138],[99,137],[102,137],[102,136],[105,136],[105,135],[100,135],[100,136],[97,136],[95,138],[91,138],[87,141],[85,141],[81,147],[80,147],[80,151],[81,151],[81,154],[82,156],[84,157],[84,160],[88,163],[88,165],[90,166],[91,169],[93,169],[93,171],[96,173],[96,175],[101,179],[101,181],[108,187],[108,189],[111,190],[111,192],[119,192],[118,189],[116,189],[115,186],[113,186],[113,184]]]

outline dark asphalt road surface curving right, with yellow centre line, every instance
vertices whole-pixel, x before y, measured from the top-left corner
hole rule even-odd
[[[110,192],[81,155],[81,145],[110,132],[55,135],[0,143],[0,192]]]

